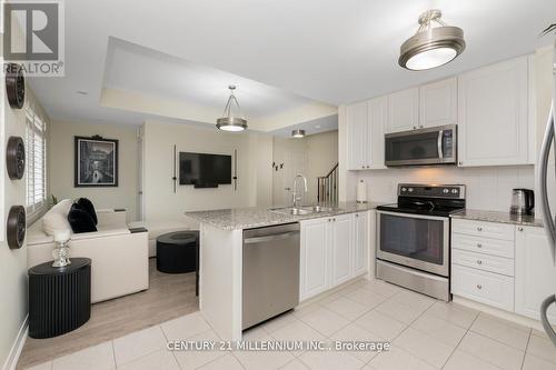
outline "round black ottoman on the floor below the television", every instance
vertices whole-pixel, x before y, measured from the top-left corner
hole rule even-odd
[[[198,231],[175,231],[157,238],[157,270],[183,273],[197,270]]]

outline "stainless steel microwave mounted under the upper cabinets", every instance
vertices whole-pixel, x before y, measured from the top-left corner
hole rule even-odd
[[[457,126],[439,126],[385,136],[385,164],[456,164]]]

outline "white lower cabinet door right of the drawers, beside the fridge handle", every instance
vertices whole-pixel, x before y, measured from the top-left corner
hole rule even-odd
[[[540,302],[556,293],[556,267],[543,228],[517,227],[515,284],[516,312],[538,320]],[[548,318],[556,322],[554,306]]]

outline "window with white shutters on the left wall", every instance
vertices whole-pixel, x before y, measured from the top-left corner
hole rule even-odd
[[[27,213],[29,216],[47,206],[47,124],[27,107]]]

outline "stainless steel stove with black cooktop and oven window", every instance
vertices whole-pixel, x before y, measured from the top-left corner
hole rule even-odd
[[[377,207],[377,278],[448,301],[449,214],[464,208],[465,186],[398,184]]]

